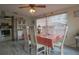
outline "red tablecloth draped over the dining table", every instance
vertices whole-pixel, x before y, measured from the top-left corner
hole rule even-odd
[[[57,42],[59,39],[62,39],[62,35],[37,35],[37,42],[39,44],[43,44],[48,47],[52,47],[55,42]]]

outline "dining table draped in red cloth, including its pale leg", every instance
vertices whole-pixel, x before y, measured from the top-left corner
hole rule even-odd
[[[51,48],[54,47],[54,44],[59,40],[61,40],[63,37],[64,37],[63,35],[56,35],[56,34],[55,35],[39,34],[36,36],[37,43],[44,45],[46,47],[47,54],[50,54],[50,50]]]

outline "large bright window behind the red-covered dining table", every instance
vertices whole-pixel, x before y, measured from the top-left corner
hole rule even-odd
[[[37,19],[37,26],[41,26],[41,33],[44,34],[64,34],[66,24],[66,13]]]

